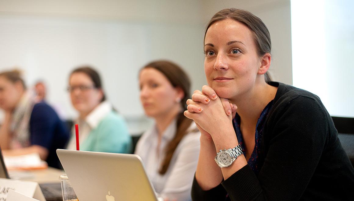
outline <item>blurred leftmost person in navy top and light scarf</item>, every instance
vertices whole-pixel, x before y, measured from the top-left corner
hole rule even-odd
[[[64,148],[69,130],[46,102],[36,102],[17,70],[0,73],[0,108],[4,120],[0,146],[4,155],[38,153],[49,166],[60,168],[56,149]]]

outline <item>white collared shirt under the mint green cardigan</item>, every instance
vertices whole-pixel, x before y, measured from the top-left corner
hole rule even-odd
[[[108,101],[98,104],[85,119],[76,119],[74,124],[79,125],[79,142],[84,142],[92,129],[95,129],[99,122],[112,111],[112,105]],[[72,128],[72,136],[67,149],[76,150],[75,126]]]

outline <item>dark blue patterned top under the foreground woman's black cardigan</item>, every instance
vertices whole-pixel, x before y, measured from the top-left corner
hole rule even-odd
[[[261,116],[259,116],[257,124],[256,124],[256,133],[255,133],[255,148],[253,149],[253,152],[251,154],[250,159],[248,159],[247,164],[251,167],[253,172],[258,176],[259,173],[259,165],[258,162],[258,155],[261,152],[261,142],[262,142],[262,135],[263,135],[263,128],[264,128],[264,122],[265,118],[267,117],[268,111],[270,108],[273,106],[273,100],[268,103],[267,106],[263,109],[261,112]],[[235,118],[232,121],[234,130],[236,132],[237,140],[239,141],[239,144],[241,144],[242,149],[245,151],[246,147],[243,144],[243,138],[242,138],[242,133],[240,129],[240,124],[241,124],[241,119],[240,116],[236,113]]]

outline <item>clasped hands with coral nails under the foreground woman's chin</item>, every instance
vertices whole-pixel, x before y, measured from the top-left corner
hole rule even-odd
[[[192,99],[187,100],[187,110],[184,116],[193,119],[202,134],[218,134],[220,128],[231,125],[235,117],[237,106],[228,99],[218,97],[208,85],[202,91],[195,90]]]

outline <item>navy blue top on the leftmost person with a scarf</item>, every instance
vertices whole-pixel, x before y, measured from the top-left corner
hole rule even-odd
[[[56,153],[63,149],[69,140],[69,130],[59,119],[58,114],[45,102],[34,105],[29,122],[30,143],[48,149],[48,166],[60,168]]]

